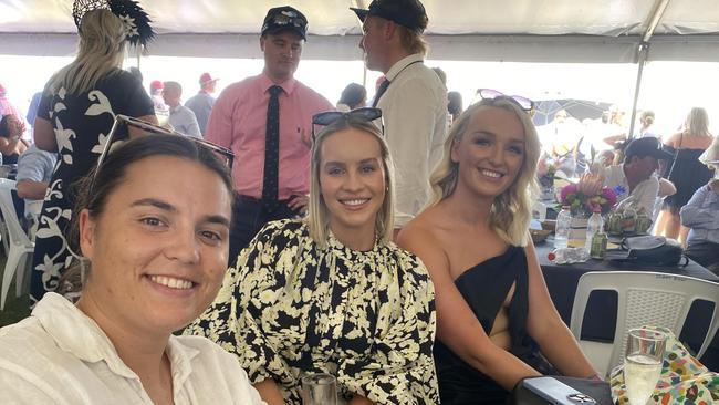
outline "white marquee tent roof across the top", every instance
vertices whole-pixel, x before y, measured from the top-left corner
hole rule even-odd
[[[140,0],[155,21],[154,55],[242,58],[267,12],[291,4],[310,20],[305,58],[357,60],[368,0]],[[719,61],[717,0],[424,0],[435,60],[517,62]],[[0,54],[70,55],[72,0],[0,0]],[[654,35],[652,35],[654,33]]]

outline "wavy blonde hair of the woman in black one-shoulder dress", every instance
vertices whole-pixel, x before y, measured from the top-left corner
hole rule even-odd
[[[434,198],[430,205],[451,196],[459,179],[459,164],[452,162],[451,150],[466,135],[472,116],[484,107],[503,108],[513,113],[524,127],[524,160],[514,181],[494,198],[489,216],[492,230],[507,243],[525,246],[529,242],[529,222],[534,196],[538,195],[536,164],[541,147],[536,129],[530,116],[509,97],[500,96],[482,100],[470,105],[452,124],[449,136],[445,142],[445,154],[429,179]]]

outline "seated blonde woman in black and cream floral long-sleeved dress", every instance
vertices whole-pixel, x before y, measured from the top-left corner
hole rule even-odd
[[[321,114],[338,118],[313,145],[308,219],[268,224],[185,333],[236,354],[270,405],[299,405],[313,373],[341,403],[436,404],[434,289],[392,242],[387,146],[366,116]]]

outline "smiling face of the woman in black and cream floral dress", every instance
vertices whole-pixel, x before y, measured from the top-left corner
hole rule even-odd
[[[382,149],[372,134],[350,127],[324,139],[320,188],[330,211],[330,229],[337,239],[374,241],[385,179]]]

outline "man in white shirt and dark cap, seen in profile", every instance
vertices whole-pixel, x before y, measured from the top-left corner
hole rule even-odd
[[[373,106],[382,110],[395,162],[395,224],[402,227],[429,199],[429,175],[447,133],[447,89],[424,64],[428,19],[418,0],[374,0],[367,10],[352,10],[363,22],[359,48],[367,69],[387,79]]]

